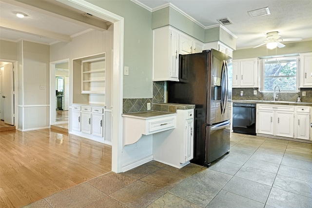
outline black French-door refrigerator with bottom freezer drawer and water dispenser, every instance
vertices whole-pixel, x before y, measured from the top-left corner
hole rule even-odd
[[[211,49],[179,56],[179,82],[168,82],[168,103],[195,104],[194,159],[210,166],[230,151],[232,58]]]

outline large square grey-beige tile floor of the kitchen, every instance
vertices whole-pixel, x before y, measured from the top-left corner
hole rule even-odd
[[[233,134],[209,168],[156,161],[109,172],[26,207],[311,208],[312,144]]]

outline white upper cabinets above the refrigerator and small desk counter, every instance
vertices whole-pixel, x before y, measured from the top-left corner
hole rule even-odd
[[[179,81],[179,54],[202,52],[203,43],[171,26],[153,31],[153,81]]]

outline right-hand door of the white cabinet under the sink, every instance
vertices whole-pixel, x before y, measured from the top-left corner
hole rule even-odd
[[[276,136],[293,138],[293,112],[276,111]]]

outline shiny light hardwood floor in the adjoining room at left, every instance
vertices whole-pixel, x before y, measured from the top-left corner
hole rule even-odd
[[[50,129],[0,132],[0,207],[22,207],[111,171],[111,151]]]

